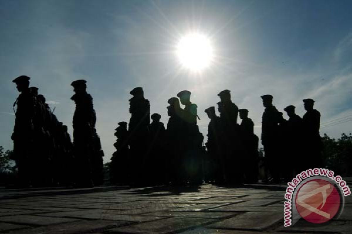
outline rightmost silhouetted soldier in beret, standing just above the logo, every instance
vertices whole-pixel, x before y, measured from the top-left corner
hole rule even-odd
[[[302,118],[303,136],[305,142],[306,168],[322,167],[322,142],[319,134],[320,113],[314,107],[313,99],[304,99],[304,109],[307,111]]]

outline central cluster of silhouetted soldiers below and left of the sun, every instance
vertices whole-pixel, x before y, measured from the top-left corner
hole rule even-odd
[[[168,100],[166,128],[160,122],[160,114],[150,116],[150,103],[144,98],[142,87],[134,88],[130,94],[133,97],[129,100],[131,119],[128,128],[127,122],[120,122],[115,129],[117,141],[111,158],[112,182],[202,183],[203,135],[197,126],[197,105],[191,103],[191,93],[184,90]]]

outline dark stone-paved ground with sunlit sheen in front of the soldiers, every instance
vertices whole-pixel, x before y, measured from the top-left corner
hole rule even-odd
[[[284,228],[285,188],[2,188],[0,233],[352,233],[352,195],[339,221]]]

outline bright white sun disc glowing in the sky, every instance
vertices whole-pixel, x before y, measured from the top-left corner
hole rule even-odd
[[[210,40],[200,33],[190,33],[181,38],[176,53],[181,64],[194,72],[202,71],[213,60]]]

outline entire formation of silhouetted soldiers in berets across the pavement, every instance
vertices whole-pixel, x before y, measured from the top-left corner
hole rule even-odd
[[[29,87],[28,76],[14,83],[20,92],[14,107],[14,160],[22,186],[66,185],[93,187],[104,180],[100,138],[96,133],[93,99],[86,81],[71,83],[76,104],[71,143],[67,126],[59,122],[38,88]],[[150,115],[150,102],[142,87],[134,88],[129,100],[130,121],[119,122],[110,163],[110,181],[120,185],[199,185],[256,183],[259,174],[258,136],[247,109],[231,101],[229,90],[221,91],[215,107],[205,109],[210,120],[207,142],[197,126],[197,105],[184,90],[168,100],[166,128],[161,115]],[[265,182],[290,180],[295,173],[322,167],[320,113],[314,100],[304,99],[306,114],[295,107],[284,108],[283,118],[272,104],[273,96],[263,95],[262,145]],[[182,108],[181,105],[184,107]],[[239,118],[241,123],[237,122]],[[152,120],[152,122],[150,121]]]

